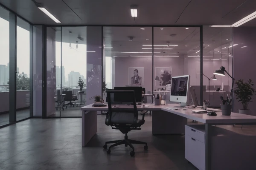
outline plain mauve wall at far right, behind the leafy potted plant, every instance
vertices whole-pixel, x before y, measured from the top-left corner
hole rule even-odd
[[[239,79],[252,79],[256,82],[256,67],[255,67],[255,54],[256,54],[256,28],[237,27],[233,30],[234,44],[238,44],[233,48],[233,72],[234,78]],[[241,48],[242,46],[246,46]],[[256,96],[254,96],[256,98]],[[250,103],[249,109],[256,111],[254,105],[256,99]],[[235,101],[234,111],[238,112],[242,109],[242,105]]]

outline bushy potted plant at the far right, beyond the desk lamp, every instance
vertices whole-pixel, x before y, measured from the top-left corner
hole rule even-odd
[[[239,109],[239,113],[241,114],[251,114],[251,110],[248,109],[248,105],[253,99],[253,96],[256,95],[255,90],[253,88],[254,83],[251,79],[245,82],[243,79],[239,79],[236,81],[236,88],[234,94],[236,95],[236,99],[243,105],[243,109]]]

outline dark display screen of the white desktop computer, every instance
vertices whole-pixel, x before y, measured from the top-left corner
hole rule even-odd
[[[188,77],[172,78],[171,96],[187,96]]]

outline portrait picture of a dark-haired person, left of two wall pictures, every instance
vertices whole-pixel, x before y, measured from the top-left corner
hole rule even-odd
[[[144,67],[129,67],[128,78],[128,85],[144,85]]]

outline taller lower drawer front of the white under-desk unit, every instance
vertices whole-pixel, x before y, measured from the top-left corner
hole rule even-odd
[[[185,135],[185,159],[199,170],[205,170],[205,144]]]

